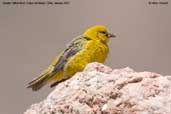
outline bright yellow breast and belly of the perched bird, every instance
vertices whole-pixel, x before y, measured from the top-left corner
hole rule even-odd
[[[88,63],[104,63],[109,49],[107,44],[100,41],[88,41],[83,49],[71,57],[64,68],[64,75],[73,76],[76,72],[82,71]]]

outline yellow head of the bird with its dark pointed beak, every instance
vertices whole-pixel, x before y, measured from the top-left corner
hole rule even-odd
[[[112,33],[109,33],[107,28],[102,25],[96,25],[84,32],[84,36],[92,40],[100,40],[104,43],[109,41],[109,38],[115,37]]]

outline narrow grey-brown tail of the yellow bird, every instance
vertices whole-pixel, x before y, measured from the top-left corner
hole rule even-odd
[[[45,71],[39,77],[36,77],[31,82],[29,82],[27,88],[32,88],[33,91],[39,90],[48,82],[50,76],[51,73]]]

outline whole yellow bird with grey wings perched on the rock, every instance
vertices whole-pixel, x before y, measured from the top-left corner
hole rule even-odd
[[[72,40],[52,64],[39,76],[28,83],[28,88],[39,90],[45,84],[51,87],[82,71],[88,63],[104,63],[107,58],[109,38],[115,35],[102,25],[96,25]]]

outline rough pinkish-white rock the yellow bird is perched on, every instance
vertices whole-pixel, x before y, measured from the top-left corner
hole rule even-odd
[[[171,76],[91,63],[24,114],[171,114]]]

